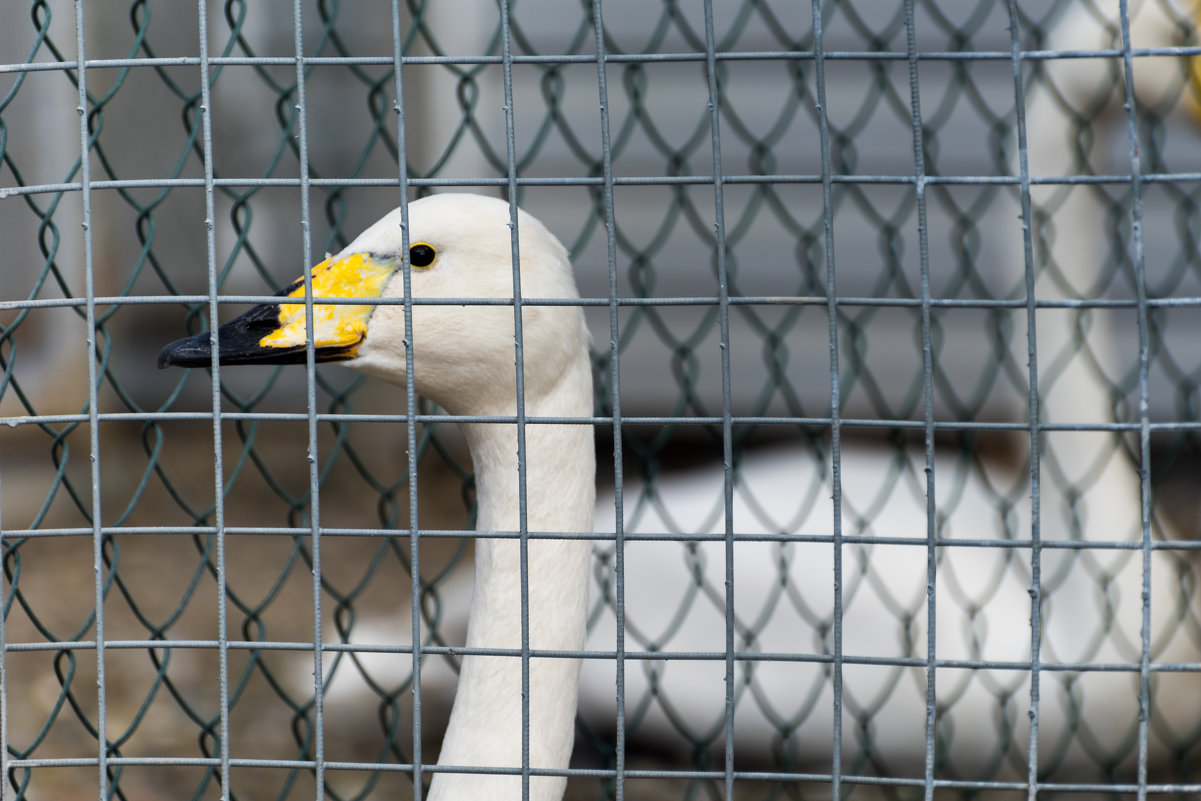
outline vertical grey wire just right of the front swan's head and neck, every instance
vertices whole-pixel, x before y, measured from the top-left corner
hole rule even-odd
[[[613,408],[613,498],[614,498],[614,555],[617,572],[616,629],[616,707],[617,707],[617,759],[614,766],[616,801],[626,797],[626,524],[625,468],[621,450],[621,318],[617,305],[617,229],[613,201],[613,148],[609,138],[609,84],[605,76],[604,18],[602,0],[592,4],[592,28],[597,44],[597,90],[600,97],[600,163],[604,174],[604,226],[605,252],[609,257],[609,402]]]

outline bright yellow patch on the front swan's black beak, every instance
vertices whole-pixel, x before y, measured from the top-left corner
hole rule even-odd
[[[369,253],[351,253],[337,261],[327,258],[312,268],[313,298],[378,298],[398,263]],[[288,298],[304,298],[304,280],[295,281],[286,291]],[[375,304],[323,304],[312,306],[313,347],[348,349],[353,355],[368,334],[368,321]],[[294,348],[305,346],[305,306],[280,305],[280,324],[274,331],[258,340],[264,348]]]

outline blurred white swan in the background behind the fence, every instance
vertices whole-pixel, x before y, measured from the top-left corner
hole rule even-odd
[[[1119,46],[1116,4],[1072,6],[1047,32],[1045,47],[1088,50]],[[1164,2],[1131,4],[1135,47],[1178,44],[1181,20]],[[1034,86],[1027,103],[1032,175],[1072,172],[1078,149],[1077,121],[1069,109],[1106,107],[1111,127],[1121,130],[1122,84],[1097,60],[1046,61],[1054,86]],[[1183,60],[1140,58],[1134,91],[1140,104],[1177,103],[1184,86]],[[1105,172],[1105,171],[1099,171]],[[1015,168],[1016,174],[1016,168]],[[1058,203],[1048,203],[1048,196]],[[1053,208],[1047,235],[1052,268],[1039,276],[1038,297],[1088,298],[1099,247],[1106,241],[1105,215],[1089,187],[1040,187],[1035,198]],[[1014,251],[1003,265],[1023,269],[1021,237],[1012,222]],[[1106,377],[1129,370],[1129,342],[1115,329],[1117,313],[1093,312],[1087,358],[1077,353],[1075,315],[1040,313],[1039,364],[1045,381],[1041,413],[1056,423],[1113,419]],[[1129,331],[1129,328],[1125,329]],[[1015,343],[1024,348],[1024,335]],[[1052,371],[1056,357],[1071,355]],[[1017,363],[1024,361],[1018,354]],[[1057,372],[1052,378],[1051,373]],[[1020,410],[1016,413],[1021,413]],[[1021,419],[1016,418],[1015,419]],[[1115,443],[1100,435],[1051,435],[1041,474],[1045,540],[1137,540],[1139,474]],[[924,537],[925,467],[919,450],[898,452],[844,443],[842,452],[843,531],[852,536]],[[946,453],[936,459],[939,536],[996,540],[1028,538],[1030,503],[1024,465],[975,460]],[[900,480],[897,480],[900,476]],[[719,465],[661,477],[649,485],[627,476],[623,527],[629,534],[709,533],[724,530]],[[794,444],[748,452],[736,473],[735,530],[740,534],[781,531],[829,534],[832,531],[829,456],[824,460]],[[1075,492],[1081,488],[1083,502]],[[615,527],[614,497],[597,500],[597,530]],[[1157,539],[1179,540],[1195,532],[1173,531],[1154,521]],[[722,652],[724,650],[724,544],[629,542],[626,545],[627,652]],[[587,648],[611,651],[616,636],[613,545],[598,549],[593,574],[594,623]],[[925,657],[925,551],[914,546],[854,545],[843,558],[843,647],[850,657]],[[826,654],[832,621],[832,549],[827,544],[740,542],[735,549],[736,647],[740,651]],[[1127,550],[1047,549],[1042,552],[1046,608],[1041,653],[1045,662],[1137,665],[1142,626],[1141,555]],[[943,549],[937,576],[937,654],[943,659],[1021,662],[1030,654],[1030,554],[1003,548]],[[1195,556],[1171,550],[1152,555],[1152,653],[1157,662],[1201,662],[1195,629],[1199,567]],[[455,590],[443,592],[446,609]],[[912,612],[916,610],[916,615]],[[1106,616],[1109,620],[1106,620]],[[1193,622],[1190,622],[1193,621]],[[365,636],[372,621],[364,621]],[[906,638],[908,641],[900,641]],[[406,673],[396,662],[366,668],[371,679],[396,685]],[[737,662],[736,753],[751,757],[779,748],[821,767],[831,757],[832,691],[817,663]],[[307,668],[306,668],[307,669]],[[625,671],[627,735],[656,747],[709,746],[724,741],[724,664],[705,660],[631,660]],[[357,680],[342,671],[334,689],[351,695]],[[582,666],[580,715],[591,727],[611,730],[615,719],[614,663],[588,659]],[[1000,753],[1010,775],[1024,776],[1030,706],[1029,670],[943,668],[937,676],[940,707],[938,757],[952,770],[994,776]],[[1080,776],[1098,765],[1133,766],[1130,733],[1137,724],[1137,674],[1133,671],[1046,670],[1040,676],[1040,747],[1034,754],[1048,775]],[[1195,742],[1201,694],[1190,673],[1163,673],[1152,698],[1153,759],[1173,759]],[[363,695],[375,699],[366,685]],[[844,669],[847,764],[866,759],[877,772],[896,775],[925,760],[926,683],[920,669],[855,664]],[[985,722],[985,723],[981,723]],[[688,735],[688,736],[683,736]],[[1183,743],[1183,745],[1182,745]],[[1004,771],[1002,771],[1004,772]]]

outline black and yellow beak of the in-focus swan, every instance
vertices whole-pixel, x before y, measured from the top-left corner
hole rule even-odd
[[[322,304],[319,299],[378,298],[399,268],[399,259],[371,253],[327,258],[312,268],[313,359],[353,359],[368,335],[376,304]],[[304,279],[277,293],[304,298]],[[221,364],[304,364],[307,313],[304,303],[268,303],[255,306],[216,330]],[[172,342],[159,354],[159,367],[208,367],[213,364],[213,333],[204,331]]]

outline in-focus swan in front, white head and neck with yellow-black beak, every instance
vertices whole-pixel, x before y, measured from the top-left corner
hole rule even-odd
[[[315,298],[362,298],[362,305],[313,305],[313,355],[386,382],[405,385],[404,305],[372,305],[404,297],[401,210],[364,231],[346,249],[312,268]],[[579,294],[567,251],[536,219],[518,213],[520,281],[525,298]],[[509,205],[476,195],[436,195],[408,204],[414,299],[514,297]],[[304,297],[304,282],[281,292]],[[521,310],[525,414],[592,413],[588,334],[580,306],[531,305]],[[305,360],[305,306],[265,304],[216,330],[221,364],[295,364]],[[514,418],[514,311],[512,305],[416,305],[412,310],[412,382],[418,393],[456,416]],[[161,367],[211,364],[211,334],[163,348]],[[464,423],[476,470],[478,528],[514,532],[521,526],[518,431],[513,423]],[[531,532],[592,530],[596,456],[591,424],[525,428],[526,526]],[[590,544],[585,539],[531,539],[527,545],[528,644],[533,650],[584,646]],[[521,647],[520,543],[476,542],[476,580],[467,622],[468,648]],[[532,769],[563,770],[570,759],[580,662],[531,658]],[[522,766],[522,659],[466,656],[438,765]],[[434,775],[431,801],[520,799],[520,775]],[[562,776],[530,778],[530,797],[555,801]]]

